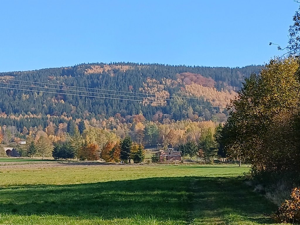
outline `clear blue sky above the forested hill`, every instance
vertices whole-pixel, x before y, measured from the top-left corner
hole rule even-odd
[[[87,62],[263,64],[292,0],[1,1],[0,72]]]

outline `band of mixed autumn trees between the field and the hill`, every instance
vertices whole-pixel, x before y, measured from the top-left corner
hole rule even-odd
[[[45,129],[24,127],[21,133],[11,127],[2,126],[0,138],[2,143],[6,143],[8,135],[11,136],[11,142],[7,144],[15,146],[22,156],[28,157],[53,156],[57,159],[80,160],[97,160],[101,157],[107,162],[118,162],[120,159],[132,159],[136,162],[144,159],[144,146],[167,148],[170,145],[182,151],[183,155],[198,155],[205,161],[217,157],[215,131],[221,128],[217,123],[159,123],[147,121],[142,115],[135,115],[131,123],[123,119],[116,116],[101,122],[95,121],[94,126],[88,121],[81,120],[76,123],[70,120],[66,124],[59,124],[58,127],[50,123]],[[114,123],[116,128],[111,129]],[[123,153],[120,149],[128,138],[130,152],[127,158],[122,158]],[[27,144],[16,144],[21,140],[26,140]],[[196,147],[191,150],[189,145]]]

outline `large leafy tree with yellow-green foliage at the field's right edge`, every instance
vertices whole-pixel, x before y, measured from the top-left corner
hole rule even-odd
[[[222,131],[227,155],[247,159],[255,173],[300,172],[299,92],[299,64],[292,57],[271,60],[245,79]]]

